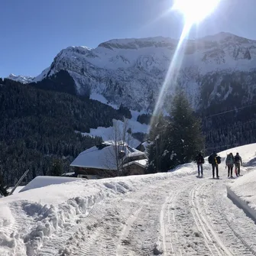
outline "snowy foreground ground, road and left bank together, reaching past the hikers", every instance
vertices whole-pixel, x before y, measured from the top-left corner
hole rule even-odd
[[[256,144],[232,152],[238,150],[246,162]],[[220,180],[212,179],[209,164],[204,169],[203,178],[186,164],[2,198],[0,255],[255,255],[256,225],[226,196],[234,180],[224,164]]]

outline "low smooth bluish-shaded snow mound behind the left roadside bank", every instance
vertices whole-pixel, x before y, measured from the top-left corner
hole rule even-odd
[[[43,186],[50,186],[53,184],[67,183],[71,181],[77,181],[77,178],[37,176],[34,178],[34,180],[31,180],[31,182],[28,183],[28,185],[24,186],[24,188],[22,188],[20,192],[24,192],[26,190],[34,190]]]

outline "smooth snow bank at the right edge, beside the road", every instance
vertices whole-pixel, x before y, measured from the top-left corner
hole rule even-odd
[[[256,222],[256,169],[227,186],[228,198]]]

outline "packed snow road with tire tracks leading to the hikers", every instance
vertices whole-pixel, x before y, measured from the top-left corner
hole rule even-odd
[[[105,199],[38,254],[59,248],[59,255],[255,255],[256,225],[226,197],[231,180],[212,180],[209,173]]]

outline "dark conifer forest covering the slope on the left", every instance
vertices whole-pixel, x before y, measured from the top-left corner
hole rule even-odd
[[[0,175],[11,186],[27,169],[28,181],[50,175],[59,161],[63,172],[70,171],[81,151],[102,141],[81,133],[112,126],[124,115],[124,107],[0,79]]]

